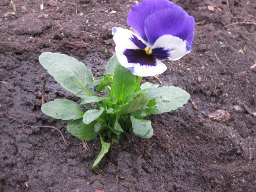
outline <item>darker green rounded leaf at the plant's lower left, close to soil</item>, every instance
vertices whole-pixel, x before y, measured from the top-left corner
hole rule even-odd
[[[97,133],[94,132],[93,127],[97,121],[93,121],[90,124],[84,124],[83,119],[77,119],[71,121],[67,130],[72,135],[78,137],[78,139],[90,141],[97,137]]]

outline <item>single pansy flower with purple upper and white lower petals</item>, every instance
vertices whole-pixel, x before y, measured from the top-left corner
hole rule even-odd
[[[178,60],[191,50],[195,19],[167,0],[144,0],[131,8],[127,23],[136,33],[113,27],[121,65],[138,76],[166,70],[162,60]]]

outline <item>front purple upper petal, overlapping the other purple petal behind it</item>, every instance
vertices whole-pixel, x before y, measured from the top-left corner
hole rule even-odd
[[[157,11],[145,20],[145,33],[150,45],[162,35],[173,35],[191,45],[195,19],[182,9]],[[156,30],[157,29],[157,30]]]

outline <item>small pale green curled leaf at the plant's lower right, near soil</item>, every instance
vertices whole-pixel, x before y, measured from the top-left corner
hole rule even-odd
[[[142,138],[151,138],[153,136],[153,128],[150,120],[136,119],[131,115],[133,133]]]

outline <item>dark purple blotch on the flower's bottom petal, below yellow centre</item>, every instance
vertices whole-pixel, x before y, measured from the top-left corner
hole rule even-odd
[[[125,49],[124,55],[128,63],[138,63],[139,65],[156,66],[157,62],[153,54],[147,54],[142,49]]]

